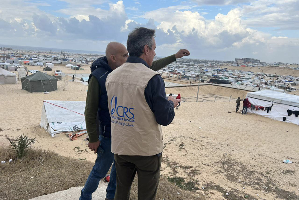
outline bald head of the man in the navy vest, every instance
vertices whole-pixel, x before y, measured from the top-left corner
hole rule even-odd
[[[106,47],[106,57],[112,70],[125,63],[128,54],[126,47],[119,42],[110,42]]]

